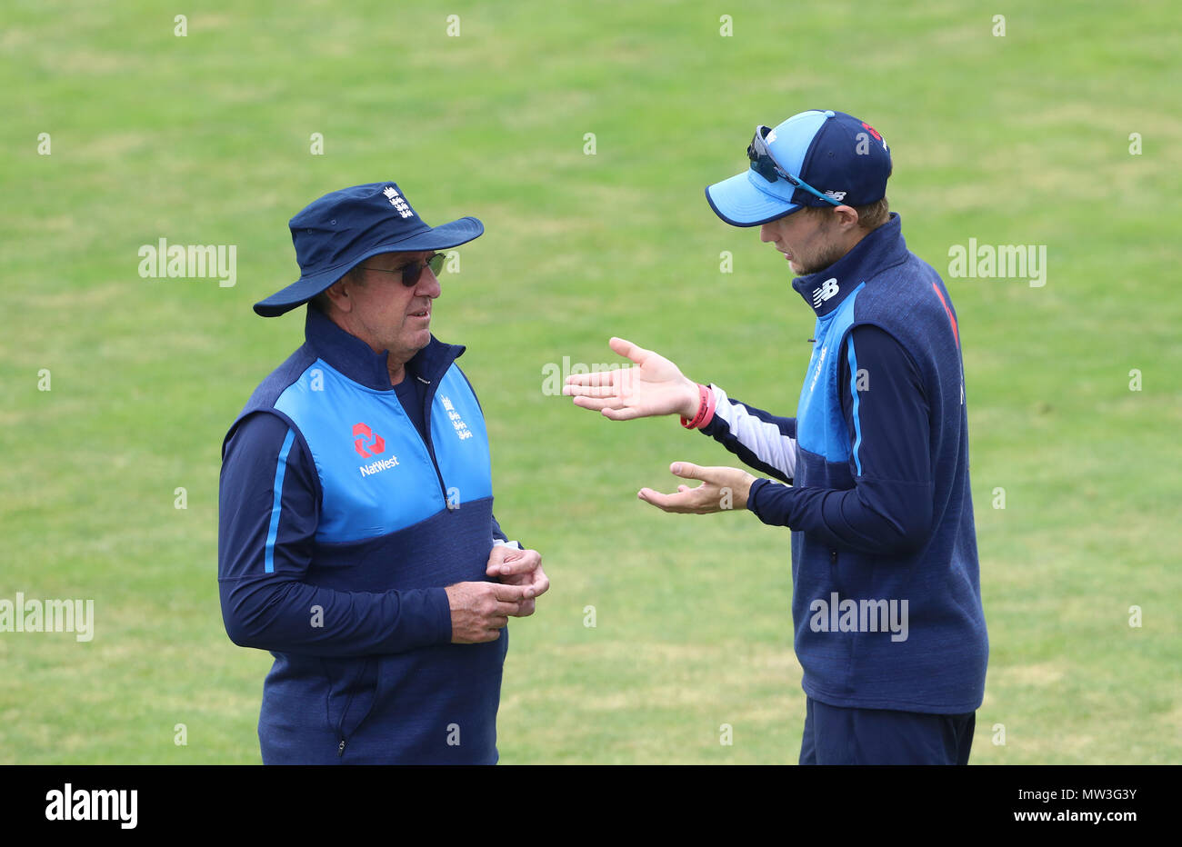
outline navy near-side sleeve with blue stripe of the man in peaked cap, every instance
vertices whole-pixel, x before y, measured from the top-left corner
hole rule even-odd
[[[817,533],[834,548],[922,548],[933,529],[930,424],[922,376],[892,335],[862,325],[845,338],[839,378],[855,487],[788,488],[758,480],[747,508],[764,523]]]

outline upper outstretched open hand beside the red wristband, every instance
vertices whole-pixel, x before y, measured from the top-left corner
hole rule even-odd
[[[574,405],[602,412],[610,421],[654,415],[691,418],[697,413],[697,384],[684,377],[677,365],[623,338],[612,338],[608,344],[636,366],[600,373],[572,373],[566,378],[563,393],[573,397]]]

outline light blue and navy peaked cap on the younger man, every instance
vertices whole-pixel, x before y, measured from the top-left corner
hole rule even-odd
[[[788,174],[840,204],[865,206],[886,196],[890,149],[873,126],[852,115],[800,112],[764,141]],[[768,181],[752,168],[707,187],[706,200],[714,214],[735,227],[768,223],[804,206],[833,206],[784,178]]]

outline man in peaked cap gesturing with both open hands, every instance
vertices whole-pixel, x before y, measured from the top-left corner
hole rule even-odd
[[[758,128],[747,157],[706,196],[725,222],[760,227],[816,313],[797,416],[728,398],[618,338],[612,350],[636,367],[572,376],[565,391],[612,421],[680,413],[779,481],[675,462],[703,484],[639,496],[665,512],[746,508],[792,529],[801,764],[963,764],[988,639],[952,299],[889,211],[890,151],[870,124],[801,112]]]

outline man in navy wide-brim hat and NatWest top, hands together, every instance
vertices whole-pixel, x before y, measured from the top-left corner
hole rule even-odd
[[[264,763],[494,763],[509,617],[548,587],[493,516],[488,437],[430,333],[442,255],[483,226],[429,227],[392,182],[291,222],[305,343],[222,447],[219,582],[230,639],[269,650]]]

